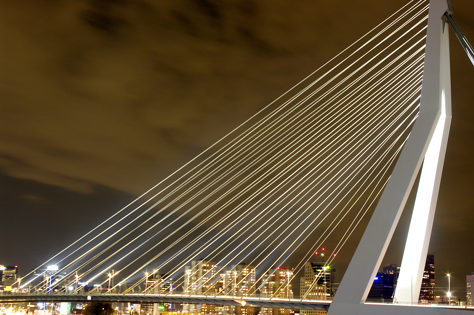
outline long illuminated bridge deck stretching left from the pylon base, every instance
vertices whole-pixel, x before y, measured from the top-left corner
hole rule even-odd
[[[91,297],[89,300],[87,297]],[[37,294],[0,296],[0,303],[21,302],[150,302],[150,303],[189,303],[229,306],[257,306],[294,309],[327,310],[331,301],[282,299],[265,297],[215,297],[189,295],[157,294]],[[245,303],[243,303],[245,301]]]

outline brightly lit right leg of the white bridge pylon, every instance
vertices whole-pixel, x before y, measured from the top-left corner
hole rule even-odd
[[[441,30],[441,32],[443,32]],[[446,144],[451,124],[451,81],[449,75],[449,36],[441,38],[441,117],[425,154],[410,229],[401,261],[394,303],[418,303],[429,238],[433,226],[439,182],[443,171]]]

